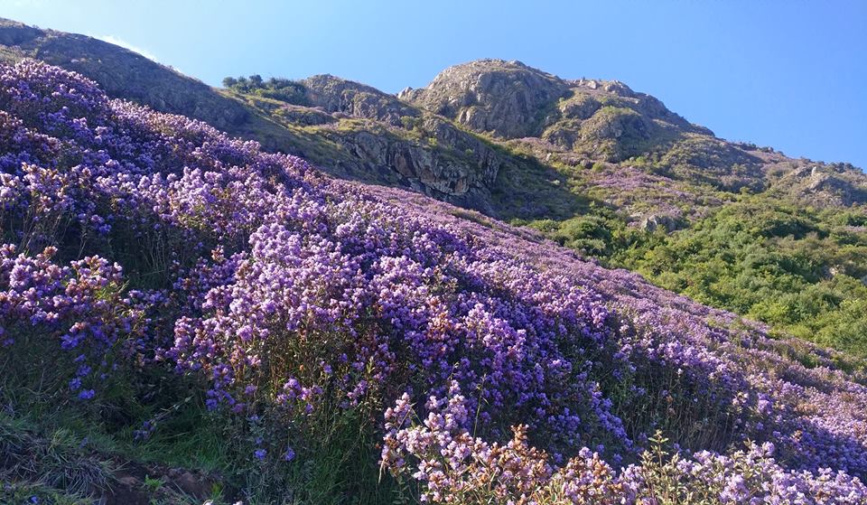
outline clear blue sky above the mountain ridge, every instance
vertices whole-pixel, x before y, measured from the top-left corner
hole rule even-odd
[[[478,58],[619,79],[718,135],[867,168],[867,1],[0,0],[212,85],[331,73],[389,92]]]

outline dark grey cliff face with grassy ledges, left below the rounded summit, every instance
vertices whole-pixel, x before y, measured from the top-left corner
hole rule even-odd
[[[497,214],[490,188],[508,155],[443,117],[378,89],[330,75],[296,83],[299,103],[235,93],[258,113],[312,139],[285,141],[325,170],[364,182],[409,187],[443,201]]]

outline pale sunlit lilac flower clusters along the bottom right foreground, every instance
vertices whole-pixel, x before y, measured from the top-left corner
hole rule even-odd
[[[774,459],[774,444],[749,442],[729,455],[700,451],[667,454],[652,439],[640,464],[616,472],[586,447],[568,462],[528,444],[517,426],[507,444],[490,444],[462,426],[468,415],[461,395],[431,397],[417,420],[409,397],[387,409],[382,463],[423,483],[421,499],[433,503],[827,503],[861,504],[867,486],[842,471],[792,471]]]

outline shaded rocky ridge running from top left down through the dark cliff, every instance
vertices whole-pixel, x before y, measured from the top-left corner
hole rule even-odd
[[[3,20],[0,44],[5,61],[37,58],[94,79],[111,97],[200,119],[269,150],[304,156],[341,177],[412,188],[488,213],[495,213],[489,191],[497,174],[520,164],[441,118],[344,79],[306,79],[307,107],[293,107],[222,93],[85,35]],[[404,127],[402,117],[417,126]]]

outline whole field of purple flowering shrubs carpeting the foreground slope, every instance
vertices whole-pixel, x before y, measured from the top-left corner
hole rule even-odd
[[[351,418],[425,500],[867,495],[863,375],[526,230],[35,61],[0,68],[0,145],[5,359],[57,350],[82,399],[117,367],[191,379],[263,475]]]

